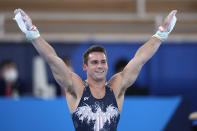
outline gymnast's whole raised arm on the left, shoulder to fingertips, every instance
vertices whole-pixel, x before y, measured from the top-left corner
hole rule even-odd
[[[80,81],[80,78],[72,73],[66,64],[60,59],[54,49],[40,36],[37,28],[32,25],[30,17],[21,9],[15,10],[15,20],[21,29],[25,33],[27,39],[31,41],[38,53],[49,64],[53,76],[61,87],[66,88],[68,92],[76,96],[76,89],[73,86],[74,82]]]

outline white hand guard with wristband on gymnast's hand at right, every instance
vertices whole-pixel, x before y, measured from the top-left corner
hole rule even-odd
[[[175,14],[176,14],[176,13],[175,13]],[[164,29],[163,26],[160,26],[159,29],[158,29],[158,31],[156,32],[156,34],[153,35],[153,36],[156,37],[156,38],[158,38],[158,39],[160,39],[160,40],[162,40],[162,41],[167,40],[168,35],[169,35],[170,32],[173,30],[173,28],[174,28],[174,26],[175,26],[175,24],[176,24],[176,20],[177,20],[176,16],[173,15],[173,17],[172,17],[172,19],[171,19],[171,21],[170,21],[170,24],[169,24],[169,26],[167,27],[167,29]]]

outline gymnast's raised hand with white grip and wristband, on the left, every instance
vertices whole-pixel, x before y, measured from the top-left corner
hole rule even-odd
[[[21,31],[25,33],[28,40],[34,40],[40,37],[40,33],[36,26],[32,24],[31,18],[22,9],[16,9],[14,14],[14,20],[17,22]]]

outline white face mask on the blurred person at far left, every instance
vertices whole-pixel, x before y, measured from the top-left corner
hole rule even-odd
[[[18,78],[18,72],[16,69],[8,69],[4,73],[5,81],[13,83],[17,80]]]

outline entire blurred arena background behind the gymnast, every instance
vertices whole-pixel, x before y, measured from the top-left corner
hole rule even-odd
[[[118,131],[196,130],[196,7],[196,0],[0,0],[0,130],[74,130],[65,92],[13,21],[16,8],[83,80],[89,46],[106,48],[109,80],[177,9],[168,40],[126,92]]]

